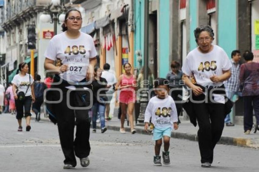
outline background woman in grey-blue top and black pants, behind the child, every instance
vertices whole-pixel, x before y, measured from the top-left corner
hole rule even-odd
[[[171,97],[174,101],[182,101],[183,98],[183,85],[181,84],[183,72],[180,71],[180,63],[178,61],[171,62],[171,71],[166,75],[166,79],[169,80],[169,88],[171,92]],[[179,120],[179,115],[182,112],[182,103],[176,103],[177,115],[178,115],[178,124],[181,123]]]

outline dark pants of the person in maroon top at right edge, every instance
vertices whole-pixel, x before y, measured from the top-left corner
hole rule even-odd
[[[259,125],[259,96],[243,96],[244,100],[244,131],[251,130],[253,126],[253,108],[256,123]]]

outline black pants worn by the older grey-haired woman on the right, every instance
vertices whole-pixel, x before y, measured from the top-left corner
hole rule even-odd
[[[224,128],[224,106],[222,103],[197,103],[194,106],[199,125],[198,142],[201,163],[213,161],[213,150]]]

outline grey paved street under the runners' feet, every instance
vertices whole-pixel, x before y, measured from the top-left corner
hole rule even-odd
[[[25,120],[23,120],[25,126]],[[31,122],[30,132],[17,132],[14,115],[0,115],[0,171],[48,172],[63,170],[63,154],[57,126],[50,122]],[[25,128],[25,127],[23,127]],[[24,129],[23,129],[24,130]],[[108,130],[90,136],[90,166],[76,171],[258,171],[259,150],[217,145],[212,168],[200,167],[198,143],[171,139],[170,166],[154,167],[154,142],[143,134],[120,134]]]

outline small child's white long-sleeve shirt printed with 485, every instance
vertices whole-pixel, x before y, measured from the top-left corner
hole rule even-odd
[[[144,122],[150,121],[157,128],[171,127],[173,122],[178,121],[176,105],[173,98],[167,95],[166,98],[160,99],[157,96],[148,102]]]

